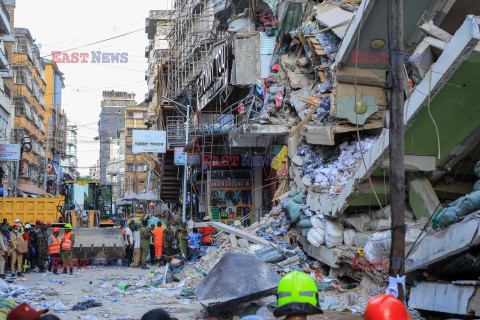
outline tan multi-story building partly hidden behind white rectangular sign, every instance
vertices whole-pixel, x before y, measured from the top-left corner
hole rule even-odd
[[[141,154],[132,152],[133,130],[147,130],[148,106],[142,102],[129,106],[125,112],[125,193],[147,191],[149,162]]]

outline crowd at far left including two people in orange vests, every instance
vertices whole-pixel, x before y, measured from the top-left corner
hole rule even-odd
[[[70,224],[64,225],[64,233],[59,238],[60,229],[52,229],[48,234],[49,226],[40,219],[35,222],[35,227],[16,219],[10,225],[3,219],[0,225],[0,278],[5,279],[10,271],[12,277],[21,277],[24,272],[58,273],[63,268],[63,273],[73,273],[72,250],[75,235]],[[48,262],[48,264],[47,264]],[[9,269],[10,267],[10,269]]]

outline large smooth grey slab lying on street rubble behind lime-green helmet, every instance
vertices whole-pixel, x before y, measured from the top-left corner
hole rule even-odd
[[[252,272],[255,270],[255,272]],[[229,252],[195,289],[209,315],[274,295],[281,276],[254,254]]]

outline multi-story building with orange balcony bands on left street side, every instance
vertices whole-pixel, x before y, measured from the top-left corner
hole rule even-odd
[[[30,31],[25,28],[15,28],[13,78],[13,141],[21,143],[28,137],[32,146],[23,153],[19,182],[41,186],[45,170],[45,63]]]

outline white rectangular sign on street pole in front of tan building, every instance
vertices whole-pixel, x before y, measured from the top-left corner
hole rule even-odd
[[[156,130],[133,130],[133,153],[166,153],[167,132]]]

